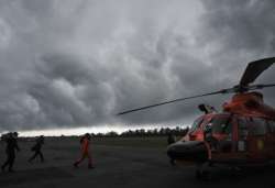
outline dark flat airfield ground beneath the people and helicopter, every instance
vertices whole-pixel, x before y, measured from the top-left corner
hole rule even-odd
[[[229,169],[215,169],[212,179],[195,178],[194,166],[170,166],[166,156],[165,137],[97,139],[92,153],[95,169],[85,162],[73,167],[79,157],[76,139],[48,140],[44,145],[46,162],[28,163],[32,142],[19,142],[15,173],[0,173],[0,188],[275,188],[275,169],[257,168],[237,175]],[[0,143],[0,163],[3,163],[4,143]]]

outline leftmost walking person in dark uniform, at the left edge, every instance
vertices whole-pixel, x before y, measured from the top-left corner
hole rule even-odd
[[[6,139],[7,142],[7,147],[6,147],[6,153],[7,153],[7,161],[4,164],[1,166],[2,172],[4,172],[6,167],[9,166],[9,172],[12,173],[13,169],[13,164],[15,159],[15,150],[19,152],[20,148],[18,146],[18,133],[9,133],[9,135]]]

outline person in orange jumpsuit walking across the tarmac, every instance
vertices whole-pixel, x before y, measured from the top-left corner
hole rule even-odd
[[[81,139],[80,139],[80,144],[81,144],[81,157],[79,159],[77,159],[74,163],[75,167],[78,167],[78,165],[85,159],[88,158],[88,168],[94,168],[94,164],[92,164],[92,158],[91,158],[91,154],[89,151],[89,146],[90,146],[90,140],[91,136],[89,133],[86,133]]]

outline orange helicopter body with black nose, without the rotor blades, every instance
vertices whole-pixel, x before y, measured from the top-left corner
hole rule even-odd
[[[275,111],[260,92],[233,96],[223,111],[198,118],[187,135],[168,147],[168,156],[178,163],[233,166],[275,161]]]

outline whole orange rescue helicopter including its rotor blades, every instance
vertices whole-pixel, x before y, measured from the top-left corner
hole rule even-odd
[[[176,164],[196,164],[196,177],[208,176],[208,167],[219,165],[242,168],[275,163],[275,109],[264,103],[256,90],[275,87],[275,84],[252,85],[275,63],[275,57],[248,64],[240,82],[213,92],[168,100],[118,113],[127,114],[188,99],[233,93],[222,104],[222,112],[207,104],[199,104],[205,112],[178,142],[167,147],[167,155]]]

